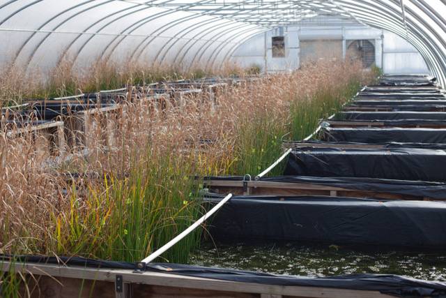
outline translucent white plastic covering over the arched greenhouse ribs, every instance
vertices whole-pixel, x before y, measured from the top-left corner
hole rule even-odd
[[[445,86],[444,0],[3,0],[0,62],[50,68],[65,57],[82,65],[102,57],[222,66],[259,33],[325,15],[396,33]]]

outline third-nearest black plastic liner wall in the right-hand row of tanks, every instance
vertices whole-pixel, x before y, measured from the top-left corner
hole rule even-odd
[[[446,128],[324,128],[320,135],[328,142],[446,144]]]

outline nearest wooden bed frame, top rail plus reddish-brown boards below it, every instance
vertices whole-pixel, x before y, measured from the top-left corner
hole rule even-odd
[[[370,290],[307,286],[264,285],[222,281],[129,269],[93,269],[40,263],[0,262],[0,271],[11,269],[29,276],[29,288],[43,297],[232,297],[232,298],[391,298]],[[23,285],[22,285],[23,287]],[[22,289],[23,290],[23,289]],[[37,296],[37,295],[36,295]]]

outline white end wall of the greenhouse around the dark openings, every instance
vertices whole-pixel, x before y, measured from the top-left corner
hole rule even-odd
[[[271,37],[277,29],[247,40],[232,54],[231,59],[241,67],[261,66],[262,71],[289,71],[300,67],[300,40],[341,40],[346,57],[347,40],[371,40],[375,46],[375,64],[384,73],[429,73],[417,50],[394,33],[362,25],[305,26],[284,28],[286,57],[272,58]]]

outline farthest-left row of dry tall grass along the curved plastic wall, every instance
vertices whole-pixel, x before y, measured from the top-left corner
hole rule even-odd
[[[45,99],[121,89],[128,85],[144,86],[154,82],[199,79],[209,75],[229,76],[252,73],[236,65],[225,64],[219,70],[200,66],[182,69],[169,64],[117,64],[98,59],[88,68],[79,68],[70,59],[51,70],[24,72],[17,66],[5,66],[0,72],[0,107],[21,103],[23,99]]]

